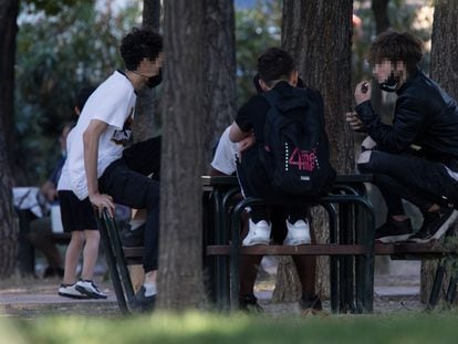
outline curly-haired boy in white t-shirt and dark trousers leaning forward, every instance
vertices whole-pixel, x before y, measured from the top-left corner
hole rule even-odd
[[[115,71],[87,100],[71,135],[69,179],[79,199],[89,198],[113,216],[115,202],[146,208],[145,281],[134,303],[142,310],[154,306],[156,296],[159,230],[160,137],[131,143],[136,91],[160,82],[163,39],[148,30],[134,29],[124,37],[121,55],[124,72]],[[148,175],[153,174],[152,178]]]

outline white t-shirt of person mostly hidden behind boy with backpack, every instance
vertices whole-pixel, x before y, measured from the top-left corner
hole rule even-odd
[[[232,175],[237,170],[236,159],[238,154],[238,144],[229,139],[230,126],[226,128],[219,138],[218,147],[215,152],[211,167],[223,173]]]

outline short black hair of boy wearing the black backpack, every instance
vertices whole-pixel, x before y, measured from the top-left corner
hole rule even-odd
[[[294,72],[293,58],[280,48],[270,48],[258,59],[260,79],[271,86],[271,82],[290,77]]]

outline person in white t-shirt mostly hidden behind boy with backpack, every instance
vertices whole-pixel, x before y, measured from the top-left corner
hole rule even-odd
[[[263,92],[259,85],[259,74],[254,76],[254,86],[258,93]],[[303,87],[302,80],[299,79],[298,86]],[[215,152],[214,159],[211,161],[210,175],[211,176],[230,176],[237,171],[237,159],[246,149],[254,145],[254,135],[248,135],[239,143],[232,143],[229,139],[230,126],[222,133],[217,149]],[[310,232],[310,238],[293,238],[288,236],[285,226],[285,218],[288,213],[284,207],[270,206],[269,207],[272,231],[271,237],[273,242],[283,244],[299,244],[314,242],[315,238],[313,231]],[[248,227],[243,226],[242,238],[247,238]],[[301,241],[303,240],[303,241]],[[321,311],[321,300],[315,293],[315,271],[316,271],[316,258],[312,256],[293,256],[294,264],[298,270],[298,275],[302,286],[302,295],[299,300],[299,304],[302,311],[312,310]],[[240,291],[239,291],[239,304],[241,310],[247,311],[262,311],[262,307],[258,304],[258,299],[254,296],[254,282],[258,274],[258,270],[262,260],[262,256],[241,256],[240,257]]]

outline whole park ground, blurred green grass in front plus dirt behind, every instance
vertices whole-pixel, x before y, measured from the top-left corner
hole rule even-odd
[[[123,316],[110,281],[97,275],[107,300],[75,301],[56,294],[59,279],[0,281],[0,344],[3,343],[457,343],[458,312],[424,312],[419,264],[377,273],[374,314],[300,314],[296,303],[272,303],[274,267],[257,285],[264,313],[154,312]],[[299,316],[298,316],[299,315]]]

